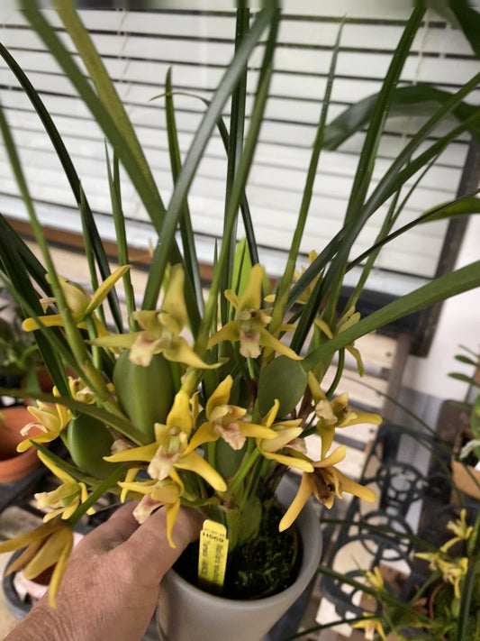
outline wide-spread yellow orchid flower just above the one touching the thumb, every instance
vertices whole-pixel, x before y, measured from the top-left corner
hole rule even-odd
[[[155,424],[155,442],[132,447],[112,456],[105,456],[110,462],[147,462],[151,479],[163,481],[171,476],[174,469],[195,472],[212,485],[213,490],[225,491],[225,481],[199,453],[188,446],[188,436],[194,426],[190,410],[190,398],[180,389],[168,413],[166,425]]]

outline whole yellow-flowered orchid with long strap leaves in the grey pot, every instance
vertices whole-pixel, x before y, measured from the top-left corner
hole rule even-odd
[[[415,177],[415,185],[418,184],[439,153],[459,134],[466,131],[478,134],[480,114],[472,105],[464,103],[464,98],[477,87],[480,74],[456,94],[442,92],[436,96],[439,108],[433,110],[372,188],[385,119],[391,105],[398,105],[395,102],[399,96],[397,82],[412,39],[421,26],[423,10],[412,11],[382,90],[367,105],[367,135],[343,227],[325,247],[316,248],[310,266],[300,274],[295,268],[323,140],[339,128],[343,137],[345,133],[348,137],[358,127],[355,124],[349,130],[345,121],[339,119],[329,127],[325,125],[338,49],[333,51],[292,246],[284,274],[271,291],[261,266],[244,188],[267,101],[279,12],[274,8],[262,10],[249,27],[249,11],[238,11],[234,58],[206,106],[204,119],[183,164],[178,151],[174,92],[168,73],[165,101],[175,188],[166,208],[133,127],[88,33],[66,0],[57,5],[59,16],[77,47],[75,55],[68,51],[34,3],[25,2],[23,9],[26,19],[94,114],[113,149],[113,163],[107,157],[108,188],[121,267],[110,272],[95,216],[50,114],[22,69],[5,48],[0,48],[50,134],[77,199],[92,279],[92,291],[87,292],[54,269],[12,132],[5,114],[0,111],[5,147],[44,262],[41,265],[34,259],[21,238],[0,216],[1,268],[10,291],[28,311],[30,318],[23,327],[35,333],[56,384],[54,395],[37,395],[43,402],[36,413],[43,434],[31,439],[26,435],[26,441],[39,449],[42,461],[63,481],[62,490],[41,498],[43,505],[55,509],[55,517],[31,535],[1,545],[0,551],[30,545],[12,567],[14,571],[26,564],[29,576],[46,563],[45,559],[50,563],[56,561],[50,583],[52,600],[68,560],[72,527],[106,491],[118,494],[122,500],[140,499],[135,510],[140,521],[153,509],[166,506],[168,538],[172,545],[172,527],[180,505],[200,509],[225,525],[230,553],[258,540],[266,518],[273,511],[277,483],[289,468],[301,472],[300,487],[276,529],[289,528],[311,495],[328,508],[344,492],[373,501],[375,495],[371,490],[351,481],[337,469],[346,448],[341,446],[331,451],[337,428],[381,420],[376,415],[351,409],[346,395],[335,397],[345,350],[355,356],[361,372],[361,357],[354,346],[358,337],[480,285],[480,262],[477,261],[432,280],[366,318],[360,318],[356,311],[358,297],[383,244],[414,224],[478,209],[477,199],[470,195],[431,209],[402,229],[392,231],[412,194],[412,188],[405,188],[407,181]],[[263,61],[258,69],[249,130],[244,138],[245,119],[241,114],[246,97],[247,63],[259,41],[264,42]],[[86,78],[84,69],[78,68],[77,55],[90,78]],[[423,87],[421,91],[424,90]],[[221,115],[230,96],[232,116],[228,132]],[[405,96],[401,96],[405,100]],[[409,99],[416,100],[412,95]],[[452,115],[457,118],[453,129],[435,142],[429,142],[430,133]],[[360,118],[360,121],[362,126],[365,120]],[[227,151],[226,204],[222,242],[212,257],[213,278],[204,298],[187,195],[215,127],[219,128]],[[136,188],[159,239],[147,286],[144,292],[137,292],[137,297],[129,275],[120,163]],[[386,203],[388,209],[376,244],[362,256],[350,256],[358,234]],[[246,230],[246,240],[240,243],[236,237],[239,209]],[[344,275],[363,261],[358,287],[342,309],[339,300]],[[120,280],[129,315],[127,330],[123,328],[115,291]],[[140,294],[143,298],[137,308]],[[107,303],[113,330],[105,321]],[[190,340],[184,335],[186,327]],[[323,389],[323,375],[335,354],[338,355],[337,376],[329,389]],[[75,375],[68,378],[66,368]],[[55,405],[46,405],[48,401]],[[322,445],[311,458],[305,453],[304,438],[315,433],[321,436]],[[59,460],[43,446],[57,437],[68,445],[72,464]],[[249,580],[248,572],[239,574]]]

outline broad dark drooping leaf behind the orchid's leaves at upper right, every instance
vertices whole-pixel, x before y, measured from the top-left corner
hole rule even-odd
[[[431,115],[439,106],[445,105],[451,96],[452,94],[448,91],[421,83],[412,87],[398,87],[394,91],[389,117],[404,116],[404,114]],[[343,142],[361,131],[370,121],[377,100],[378,94],[368,96],[351,105],[332,120],[325,128],[324,148],[331,151],[338,149]],[[476,109],[475,105],[462,101],[452,109],[451,116],[462,122]],[[479,124],[470,124],[468,131],[480,140]]]

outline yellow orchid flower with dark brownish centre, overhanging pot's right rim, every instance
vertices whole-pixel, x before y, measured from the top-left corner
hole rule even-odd
[[[333,505],[335,496],[339,499],[343,498],[343,492],[353,494],[369,503],[375,502],[376,494],[373,490],[364,488],[363,485],[352,481],[334,467],[337,463],[343,461],[346,453],[347,447],[340,445],[326,458],[312,462],[313,472],[303,472],[298,492],[280,521],[280,532],[292,525],[311,495],[329,509]]]

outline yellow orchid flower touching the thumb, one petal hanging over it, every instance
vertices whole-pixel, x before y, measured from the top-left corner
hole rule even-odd
[[[129,470],[131,472],[131,470]],[[133,510],[133,516],[139,523],[144,523],[154,509],[165,506],[167,511],[167,538],[170,547],[176,547],[172,539],[172,530],[177,520],[178,510],[180,509],[180,498],[184,494],[184,484],[180,480],[177,472],[172,470],[170,477],[163,481],[132,481],[138,470],[133,470],[135,474],[127,477],[125,481],[120,481],[118,485],[123,492],[133,491],[143,494],[138,506]]]

